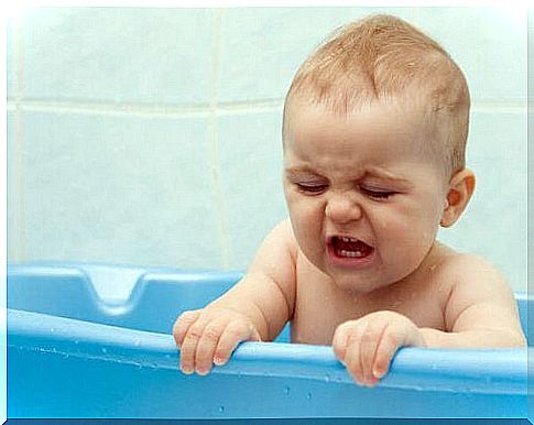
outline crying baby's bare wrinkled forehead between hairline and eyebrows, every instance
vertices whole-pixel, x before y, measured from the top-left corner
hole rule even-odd
[[[292,101],[286,112],[284,152],[286,149],[313,152],[315,144],[317,152],[346,149],[349,154],[366,145],[375,146],[384,156],[388,155],[383,150],[391,150],[391,154],[410,152],[414,162],[423,157],[446,162],[447,131],[436,129],[428,109],[415,98],[374,101],[349,111],[299,98]]]

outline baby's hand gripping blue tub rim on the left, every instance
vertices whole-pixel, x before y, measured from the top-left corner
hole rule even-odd
[[[243,315],[227,308],[183,313],[173,328],[184,373],[207,374],[212,363],[225,364],[239,342],[259,341],[260,334]]]

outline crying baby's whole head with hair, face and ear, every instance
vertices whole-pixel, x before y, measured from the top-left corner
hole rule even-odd
[[[307,259],[373,291],[419,268],[464,211],[469,91],[434,41],[392,17],[341,29],[298,69],[284,108],[284,189]]]

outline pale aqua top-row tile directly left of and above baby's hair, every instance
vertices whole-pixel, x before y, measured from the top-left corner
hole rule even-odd
[[[281,99],[302,62],[337,28],[411,8],[236,8],[224,11],[218,101]]]

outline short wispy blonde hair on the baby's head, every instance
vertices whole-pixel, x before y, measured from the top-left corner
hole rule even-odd
[[[470,107],[466,78],[438,43],[391,15],[337,30],[302,64],[285,98],[284,129],[295,96],[348,113],[403,95],[427,112],[435,139],[428,142],[445,156],[448,172],[464,168]]]

